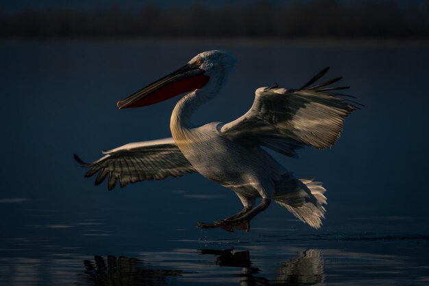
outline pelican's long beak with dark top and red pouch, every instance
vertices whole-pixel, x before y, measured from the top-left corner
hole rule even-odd
[[[122,109],[163,102],[176,95],[203,87],[209,78],[208,75],[204,75],[204,69],[199,69],[194,64],[186,64],[186,66],[156,82],[152,82],[129,97],[119,100],[117,106]]]

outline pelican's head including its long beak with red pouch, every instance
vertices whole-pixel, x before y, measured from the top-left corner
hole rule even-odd
[[[184,67],[120,100],[117,106],[119,109],[148,106],[206,85],[219,88],[235,62],[227,51],[204,51]]]

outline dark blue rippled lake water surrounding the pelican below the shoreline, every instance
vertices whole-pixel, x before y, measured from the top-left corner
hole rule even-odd
[[[328,189],[321,230],[275,205],[249,234],[199,230],[241,204],[197,174],[112,192],[83,178],[73,153],[170,136],[177,99],[115,103],[207,49],[238,65],[196,121],[326,66],[365,104],[332,150],[275,155]],[[428,285],[428,47],[3,43],[0,62],[0,285]]]

